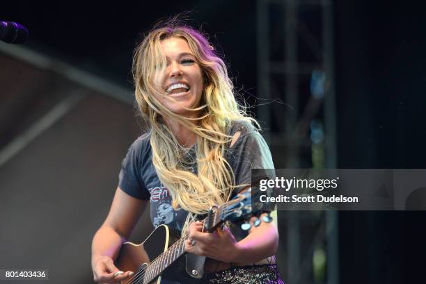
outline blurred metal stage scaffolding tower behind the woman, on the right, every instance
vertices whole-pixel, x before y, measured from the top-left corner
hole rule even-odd
[[[258,0],[257,118],[276,168],[336,168],[331,0]],[[337,284],[337,212],[278,212],[287,283]],[[282,244],[282,242],[281,242]]]

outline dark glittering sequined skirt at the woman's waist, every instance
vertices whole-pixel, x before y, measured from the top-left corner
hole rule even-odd
[[[207,273],[200,284],[284,284],[284,281],[276,265],[255,265]]]

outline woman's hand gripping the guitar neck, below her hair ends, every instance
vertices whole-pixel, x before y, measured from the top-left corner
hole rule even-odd
[[[217,228],[213,233],[202,231],[202,222],[189,225],[185,251],[223,262],[238,262],[242,248],[228,228]]]

